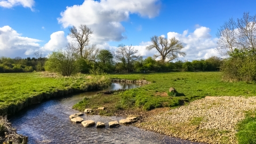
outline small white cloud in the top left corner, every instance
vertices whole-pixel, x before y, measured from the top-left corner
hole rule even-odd
[[[11,8],[13,6],[22,5],[23,7],[29,7],[33,10],[35,4],[34,0],[0,0],[0,6]]]

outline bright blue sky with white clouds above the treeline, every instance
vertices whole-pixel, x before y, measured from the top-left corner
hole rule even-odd
[[[150,37],[177,38],[185,57],[220,57],[215,47],[218,28],[229,18],[256,14],[255,0],[0,0],[0,57],[45,56],[64,49],[69,28],[84,24],[93,30],[91,44],[114,51],[132,45],[144,58]]]

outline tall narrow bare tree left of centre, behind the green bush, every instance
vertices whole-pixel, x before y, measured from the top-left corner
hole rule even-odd
[[[71,38],[75,38],[78,43],[78,47],[76,48],[76,50],[78,50],[80,56],[84,58],[83,51],[85,49],[85,46],[88,46],[90,44],[89,38],[91,37],[91,34],[93,34],[93,31],[86,25],[81,24],[78,29],[75,26],[69,28],[69,32],[70,33],[68,35]]]

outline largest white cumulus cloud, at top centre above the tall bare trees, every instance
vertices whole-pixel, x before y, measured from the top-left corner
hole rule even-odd
[[[82,5],[67,6],[58,21],[64,28],[87,25],[94,31],[91,41],[102,44],[126,38],[121,22],[127,21],[130,14],[154,18],[159,9],[159,0],[85,0]]]

